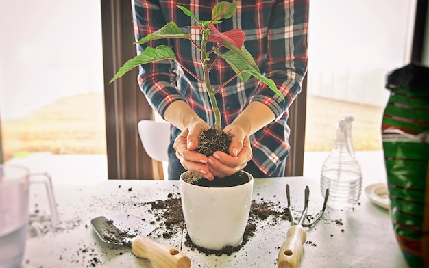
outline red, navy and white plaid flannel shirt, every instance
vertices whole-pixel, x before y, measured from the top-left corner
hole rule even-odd
[[[251,135],[253,161],[268,176],[289,155],[288,108],[301,92],[302,79],[307,70],[307,29],[309,0],[242,0],[232,18],[216,25],[219,31],[242,29],[246,35],[244,46],[251,53],[262,75],[273,79],[282,100],[267,85],[254,77],[243,84],[232,80],[216,96],[222,114],[222,127],[230,124],[252,101],[268,105],[275,120]],[[174,21],[183,32],[195,31],[196,26],[176,5],[183,5],[200,20],[211,18],[212,8],[219,1],[212,0],[132,0],[133,25],[136,40],[140,40],[169,21]],[[198,44],[199,35],[195,33]],[[149,42],[150,46],[165,44],[175,51],[177,60],[188,70],[202,77],[200,53],[189,40],[171,38]],[[141,53],[147,44],[137,44]],[[210,46],[208,46],[210,47]],[[235,72],[220,60],[210,71],[210,82],[217,88]],[[204,84],[182,70],[174,61],[156,62],[140,66],[138,83],[152,108],[161,116],[175,100],[184,100],[209,125],[214,124],[210,100]],[[304,120],[304,118],[303,118]],[[172,126],[172,138],[180,129]]]

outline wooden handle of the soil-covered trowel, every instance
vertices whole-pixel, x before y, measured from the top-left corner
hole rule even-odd
[[[158,243],[145,235],[132,242],[132,252],[140,258],[147,258],[157,267],[189,268],[191,260],[177,248]]]

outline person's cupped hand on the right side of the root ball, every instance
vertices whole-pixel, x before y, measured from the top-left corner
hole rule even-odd
[[[225,133],[230,132],[232,135],[232,141],[228,148],[229,155],[218,151],[208,157],[210,172],[219,178],[230,176],[242,170],[247,165],[247,162],[252,159],[249,136],[245,134],[241,127],[230,124],[223,131]]]

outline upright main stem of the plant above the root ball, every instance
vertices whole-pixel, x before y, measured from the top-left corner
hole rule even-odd
[[[221,132],[221,111],[219,111],[219,107],[217,106],[215,89],[212,88],[210,84],[210,76],[209,70],[207,67],[207,62],[210,59],[208,57],[208,53],[206,52],[208,34],[206,31],[203,31],[203,39],[201,40],[201,65],[203,66],[204,71],[204,85],[206,85],[206,89],[208,92],[208,97],[210,98],[210,103],[212,105],[213,113],[215,114],[215,129]]]

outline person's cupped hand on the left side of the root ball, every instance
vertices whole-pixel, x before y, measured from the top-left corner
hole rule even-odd
[[[173,147],[177,159],[185,170],[189,170],[202,178],[213,180],[215,175],[210,172],[208,167],[208,158],[195,150],[198,147],[199,134],[209,129],[204,121],[194,122],[187,126],[174,141]]]

